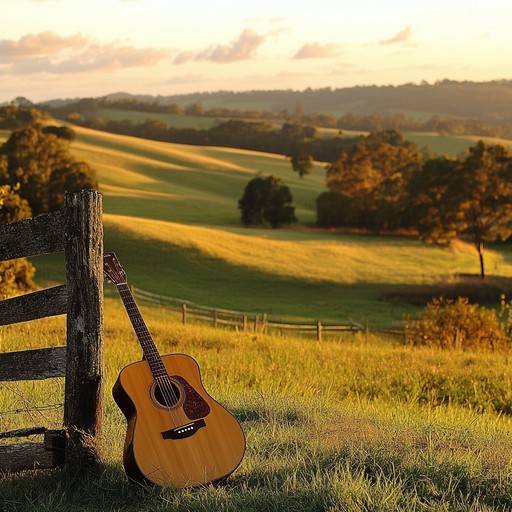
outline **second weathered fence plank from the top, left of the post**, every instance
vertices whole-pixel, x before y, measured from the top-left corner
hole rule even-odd
[[[67,312],[65,285],[46,288],[0,301],[0,325],[27,322]]]

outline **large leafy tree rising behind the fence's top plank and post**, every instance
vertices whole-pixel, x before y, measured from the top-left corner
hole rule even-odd
[[[71,138],[68,132],[27,126],[14,131],[0,148],[0,185],[19,187],[34,215],[61,208],[65,188],[97,186],[94,171],[71,154]]]

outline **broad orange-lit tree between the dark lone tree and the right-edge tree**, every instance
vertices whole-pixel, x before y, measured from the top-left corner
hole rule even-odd
[[[327,166],[327,186],[354,205],[357,227],[396,229],[406,208],[406,184],[421,167],[416,144],[388,130],[370,134]]]

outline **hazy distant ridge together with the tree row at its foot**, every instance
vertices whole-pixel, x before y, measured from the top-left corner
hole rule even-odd
[[[103,108],[221,119],[292,120],[361,131],[435,131],[512,138],[512,81],[366,86],[304,91],[219,91],[176,96],[116,95],[43,105],[56,117],[91,119]],[[242,109],[238,104],[259,108]],[[205,104],[215,105],[206,107]],[[357,105],[357,106],[354,106]],[[419,121],[406,112],[430,113]],[[344,112],[336,117],[334,112]]]

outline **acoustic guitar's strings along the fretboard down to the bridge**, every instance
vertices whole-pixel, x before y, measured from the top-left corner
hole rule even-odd
[[[135,300],[133,299],[128,284],[119,284],[117,285],[117,288],[119,294],[121,295],[121,299],[123,300],[126,311],[128,312],[128,316],[132,321],[135,333],[140,340],[143,353],[146,356],[153,377],[155,378],[156,385],[162,393],[166,409],[171,417],[171,420],[173,421],[174,426],[177,427],[180,424],[183,424],[183,420],[180,418],[180,409],[176,407],[180,398],[174,391],[172,379],[168,374],[167,368],[165,367],[158,350],[156,349],[153,338],[149,333],[149,330],[144,322],[144,319],[142,318],[142,315],[140,314]],[[151,361],[153,362],[153,366]],[[155,372],[158,375],[155,375]],[[185,422],[187,421],[188,418],[185,418]]]

